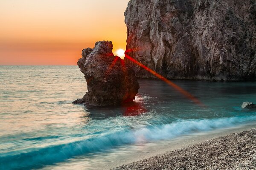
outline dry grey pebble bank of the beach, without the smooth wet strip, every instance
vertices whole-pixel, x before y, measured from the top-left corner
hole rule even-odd
[[[255,170],[256,128],[231,133],[112,170]]]

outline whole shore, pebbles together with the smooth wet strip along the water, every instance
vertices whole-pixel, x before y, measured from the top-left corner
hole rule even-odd
[[[115,162],[115,165],[108,166],[108,169],[181,170],[183,168],[183,170],[236,170],[237,168],[246,169],[247,167],[249,170],[256,170],[255,143],[256,125],[254,123],[231,129],[215,130],[207,134],[201,133],[196,136],[186,136],[186,139],[170,141],[163,147],[155,148],[155,150],[146,152],[146,154],[137,154],[133,159],[125,160],[125,162],[122,161],[122,164],[121,162]],[[223,148],[223,146],[227,147]],[[245,153],[244,150],[239,150],[238,148],[245,148],[245,150],[249,148],[252,153]],[[211,151],[213,153],[209,154]],[[228,157],[230,152],[233,154],[233,157]],[[247,155],[249,153],[250,155]]]

